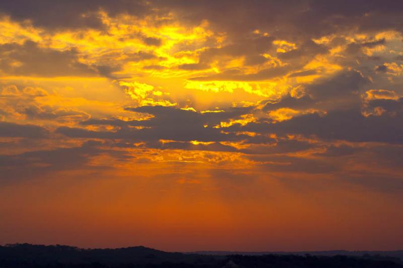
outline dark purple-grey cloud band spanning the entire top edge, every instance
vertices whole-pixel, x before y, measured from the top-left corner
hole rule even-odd
[[[169,12],[180,20],[198,25],[209,20],[212,26],[230,35],[245,35],[260,28],[280,37],[319,37],[337,31],[348,31],[354,25],[359,30],[402,30],[399,1],[357,0],[338,1],[108,1],[29,0],[3,1],[0,11],[18,21],[31,20],[45,28],[102,28],[96,12],[103,10],[110,16],[129,14],[144,16],[157,10]],[[225,11],[225,12],[224,12]],[[268,15],[270,14],[270,15]],[[231,36],[231,37],[232,37]],[[147,42],[147,41],[146,41]]]

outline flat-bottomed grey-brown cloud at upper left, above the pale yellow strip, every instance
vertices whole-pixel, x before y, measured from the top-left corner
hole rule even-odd
[[[121,57],[116,60],[115,57]],[[80,53],[75,48],[57,50],[41,47],[33,41],[20,45],[9,43],[0,45],[0,72],[9,75],[32,76],[105,76],[115,78],[113,72],[120,71],[127,62],[159,59],[152,51],[113,52],[94,64],[80,61]]]

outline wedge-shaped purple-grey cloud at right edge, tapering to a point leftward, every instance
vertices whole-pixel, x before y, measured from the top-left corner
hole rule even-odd
[[[246,126],[234,125],[229,130],[315,135],[326,140],[403,143],[401,120],[401,114],[365,117],[360,109],[352,109],[330,111],[325,116],[307,114],[275,124],[260,121]]]

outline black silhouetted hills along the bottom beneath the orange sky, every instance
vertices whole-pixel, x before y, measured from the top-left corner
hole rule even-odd
[[[203,255],[165,252],[144,246],[82,249],[64,245],[12,244],[0,246],[0,268],[15,267],[278,267],[278,268],[403,268],[396,257],[313,256],[296,254]]]

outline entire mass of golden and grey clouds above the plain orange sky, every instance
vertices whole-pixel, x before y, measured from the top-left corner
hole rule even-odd
[[[124,157],[119,150],[176,151],[190,162],[200,160],[195,151],[201,161],[214,152],[250,161],[264,175],[340,176],[347,173],[341,159],[353,158],[394,168],[399,162],[374,144],[397,146],[385,149],[395,157],[401,152],[400,8],[361,0],[2,3],[16,27],[1,35],[2,75],[41,77],[35,87],[17,78],[24,90],[3,88],[2,144],[47,138],[53,149],[10,159],[56,169],[45,154],[59,161],[76,153],[84,164],[70,159],[67,166],[89,168],[85,156],[113,155],[101,146],[113,148],[112,158]],[[110,104],[113,112],[45,101],[57,91],[104,91],[82,79],[83,92],[68,92],[58,76],[104,76],[103,86],[127,96]],[[88,139],[103,143],[61,148]],[[352,181],[364,184],[359,172]]]

